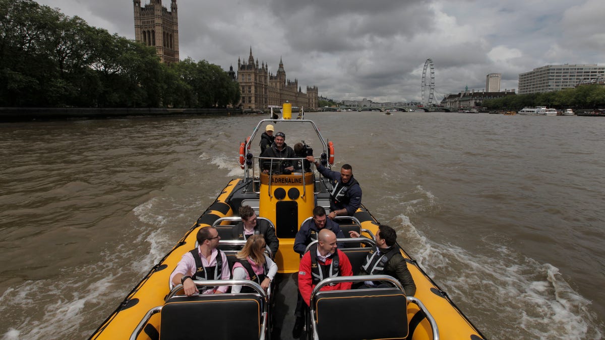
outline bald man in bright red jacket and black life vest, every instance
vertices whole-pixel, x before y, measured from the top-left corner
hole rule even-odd
[[[311,292],[319,281],[332,276],[353,276],[353,269],[347,255],[336,249],[334,232],[322,229],[319,231],[317,240],[317,245],[312,246],[302,256],[298,266],[298,289],[307,306],[310,304]],[[350,282],[324,286],[321,290],[345,289],[351,289]]]

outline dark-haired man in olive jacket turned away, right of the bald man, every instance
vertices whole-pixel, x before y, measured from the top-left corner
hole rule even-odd
[[[351,237],[359,237],[355,231],[348,232]],[[404,287],[405,295],[412,296],[416,293],[416,284],[408,270],[407,263],[397,246],[397,232],[390,226],[382,224],[376,232],[376,246],[374,246],[364,263],[361,265],[359,275],[390,275],[399,280]],[[375,281],[365,281],[359,288],[377,287]]]

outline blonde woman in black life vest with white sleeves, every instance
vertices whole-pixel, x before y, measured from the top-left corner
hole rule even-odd
[[[255,234],[250,236],[244,249],[235,255],[233,265],[234,280],[250,280],[258,283],[266,291],[269,284],[273,281],[277,273],[277,264],[273,262],[265,253],[267,247],[263,235]],[[253,290],[241,286],[233,286],[232,293],[252,292]]]

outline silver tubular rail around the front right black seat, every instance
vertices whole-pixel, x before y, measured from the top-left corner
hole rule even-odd
[[[329,284],[336,284],[336,283],[341,283],[341,282],[355,283],[355,282],[364,282],[364,281],[387,281],[388,283],[393,284],[393,286],[395,288],[401,290],[405,294],[404,287],[401,286],[401,283],[399,283],[399,281],[397,281],[396,278],[394,278],[393,276],[390,276],[390,275],[334,276],[332,278],[325,278],[324,280],[320,281],[317,284],[317,286],[315,286],[315,288],[313,288],[309,301],[313,301],[313,298],[315,298],[315,295],[317,295],[319,290],[321,290],[322,287],[327,286]],[[433,340],[439,340],[439,327],[437,327],[437,322],[433,318],[433,315],[431,315],[431,313],[428,311],[427,307],[424,306],[424,304],[422,303],[422,301],[420,301],[420,299],[415,298],[414,296],[406,296],[405,299],[408,302],[416,304],[420,308],[420,310],[422,310],[422,312],[424,312],[425,315],[427,315],[427,320],[431,325],[431,330],[433,331]],[[313,317],[313,315],[315,315],[315,307],[313,307],[313,303],[311,304],[311,306],[309,306],[309,311],[310,311],[310,319],[311,319],[310,323],[311,323],[311,329],[312,329],[311,335],[313,336],[313,339],[319,339],[319,335],[317,334],[317,324],[315,322],[315,318]]]

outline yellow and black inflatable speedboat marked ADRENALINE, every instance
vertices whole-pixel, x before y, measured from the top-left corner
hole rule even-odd
[[[289,172],[282,168],[286,162],[304,164],[304,158],[268,159],[257,157],[250,151],[258,141],[266,124],[275,125],[276,131],[300,133],[313,140],[319,156],[315,157],[327,167],[334,163],[334,146],[327,142],[311,120],[261,120],[251,136],[240,145],[240,165],[243,178],[227,183],[218,197],[197,222],[186,230],[162,260],[102,322],[92,339],[287,339],[291,338],[293,309],[296,303],[295,273],[298,272],[299,254],[293,251],[295,234],[301,224],[312,215],[315,205],[330,206],[332,184],[315,171]],[[311,135],[314,135],[313,138]],[[308,138],[308,139],[307,139]],[[307,151],[312,153],[311,151]],[[258,170],[259,163],[271,169]],[[182,286],[171,287],[169,276],[181,256],[196,246],[197,230],[215,227],[221,235],[220,244],[236,246],[241,241],[229,241],[235,221],[240,220],[240,206],[249,205],[260,217],[275,227],[280,247],[275,254],[279,267],[275,287],[268,292],[247,280],[220,281],[221,285],[249,286],[252,292],[221,295],[182,295]],[[349,246],[342,249],[359,268],[374,244],[378,221],[365,206],[352,217],[336,217],[344,230],[356,230],[364,238],[339,239]],[[345,232],[345,236],[348,233]],[[401,248],[401,247],[400,247]],[[234,255],[225,248],[228,258]],[[468,318],[456,307],[450,297],[437,286],[427,273],[404,249],[401,254],[416,283],[414,296],[405,296],[398,281],[391,276],[346,276],[328,278],[318,284],[333,284],[338,280],[384,281],[388,288],[347,291],[313,292],[306,318],[306,336],[309,339],[481,339],[483,336]],[[203,286],[215,286],[217,281],[195,281]],[[258,287],[257,287],[258,286]],[[276,297],[279,295],[279,298]],[[333,311],[338,311],[334,313]],[[388,310],[388,313],[377,313]],[[324,314],[330,322],[320,322]],[[351,327],[356,325],[358,327]]]

